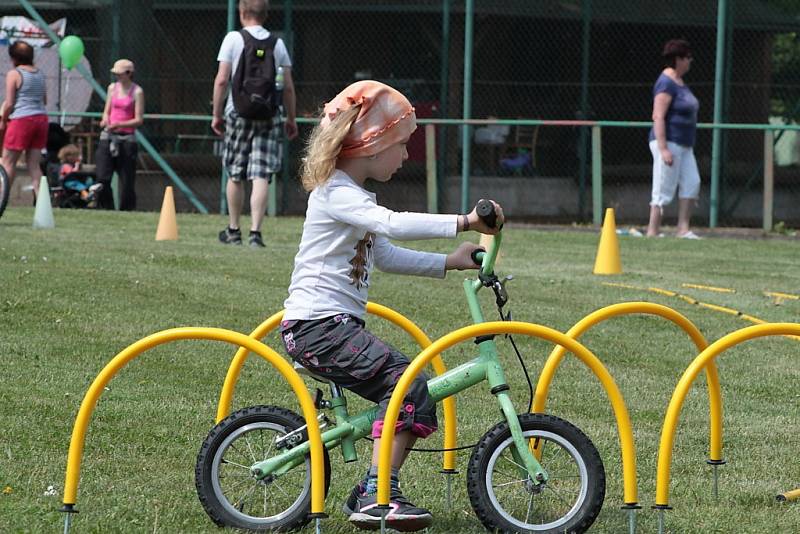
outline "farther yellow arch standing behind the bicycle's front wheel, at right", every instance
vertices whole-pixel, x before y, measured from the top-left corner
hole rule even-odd
[[[569,329],[567,335],[573,339],[578,339],[589,328],[601,321],[605,321],[611,317],[632,313],[649,313],[651,315],[659,315],[672,321],[689,334],[689,337],[692,338],[692,341],[694,341],[694,344],[697,346],[698,353],[708,347],[708,342],[703,337],[703,334],[700,333],[700,330],[698,330],[689,319],[672,308],[652,302],[623,302],[606,306],[605,308],[590,313],[575,323],[575,326]],[[558,369],[558,366],[564,359],[566,352],[567,350],[564,347],[558,346],[553,349],[553,352],[551,352],[550,356],[547,358],[544,369],[542,369],[542,374],[539,375],[539,382],[536,383],[536,394],[533,397],[534,402],[531,412],[544,412],[547,395],[550,391],[550,383],[553,381],[556,369]],[[706,367],[706,381],[708,382],[710,419],[709,459],[712,461],[720,461],[722,460],[722,392],[719,386],[717,366],[713,361]]]

